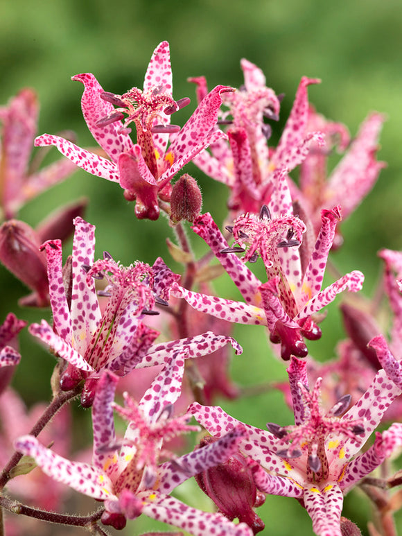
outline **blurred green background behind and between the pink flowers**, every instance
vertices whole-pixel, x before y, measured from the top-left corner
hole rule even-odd
[[[356,268],[365,273],[365,293],[372,295],[381,273],[376,252],[402,247],[400,0],[3,0],[0,7],[0,103],[6,104],[22,87],[33,87],[41,103],[38,133],[75,130],[81,146],[93,141],[80,112],[82,85],[71,82],[70,77],[92,72],[105,89],[115,93],[141,87],[150,55],[162,40],[171,44],[175,98],[193,98],[194,87],[186,82],[189,76],[207,76],[209,87],[238,87],[243,83],[241,58],[259,65],[268,85],[286,94],[276,139],[303,75],[322,79],[321,85],[309,89],[311,102],[330,119],[346,123],[351,135],[369,111],[385,112],[388,119],[379,159],[388,167],[362,206],[342,225],[344,246],[333,255],[342,273]],[[182,123],[194,103],[195,98],[180,112]],[[56,153],[53,149],[51,158],[58,157]],[[195,167],[188,171],[200,182],[204,209],[222,221],[225,189],[204,178]],[[97,227],[98,254],[109,250],[124,264],[135,259],[152,263],[161,255],[179,269],[168,257],[166,237],[172,238],[173,233],[164,218],[157,223],[137,221],[134,207],[125,202],[116,184],[83,171],[31,202],[21,211],[21,219],[35,226],[51,210],[81,196],[90,201],[86,218]],[[0,284],[1,321],[10,310],[30,321],[41,318],[40,311],[18,308],[17,299],[25,289],[1,266]],[[218,282],[218,288],[222,295],[234,295],[233,286],[225,280]],[[336,341],[344,336],[336,307],[329,309],[324,338],[311,345],[311,352],[320,359],[333,357]],[[49,319],[47,311],[43,314]],[[235,379],[247,385],[284,378],[283,365],[265,355],[262,330],[254,329],[253,337],[250,333],[236,331],[246,355],[252,355],[254,361],[250,367],[238,358]],[[36,344],[33,347],[28,336],[21,345],[23,363],[17,386],[29,403],[46,399],[53,358]],[[248,358],[246,362],[250,363]],[[264,427],[270,420],[290,424],[290,413],[278,409],[282,405],[277,393],[268,393],[225,407]],[[354,506],[349,507],[353,500]],[[363,509],[356,495],[351,501],[346,508]],[[265,533],[311,533],[308,516],[295,501],[268,497],[263,508],[260,515],[267,525]],[[356,513],[353,519],[358,519]],[[363,512],[360,519],[364,528]],[[130,524],[128,534],[141,530],[145,529]]]

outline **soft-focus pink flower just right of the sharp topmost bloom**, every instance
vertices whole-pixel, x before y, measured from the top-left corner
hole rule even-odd
[[[271,128],[264,122],[264,116],[279,118],[279,98],[265,86],[265,76],[259,67],[243,59],[241,68],[245,85],[237,92],[223,95],[229,112],[222,115],[222,123],[231,123],[227,130],[229,144],[224,140],[211,144],[210,152],[202,151],[194,162],[231,189],[229,208],[258,214],[261,205],[270,200],[274,171],[291,171],[303,162],[313,141],[323,143],[320,133],[307,130],[307,87],[320,80],[302,78],[279,144],[269,149]],[[204,78],[190,80],[198,84],[199,95],[206,92]]]

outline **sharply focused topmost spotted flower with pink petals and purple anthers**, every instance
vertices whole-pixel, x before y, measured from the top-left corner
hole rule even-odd
[[[213,130],[222,103],[221,94],[234,91],[231,87],[215,87],[198,106],[184,127],[171,126],[173,112],[189,103],[189,99],[174,101],[169,46],[157,46],[148,70],[143,91],[134,87],[124,95],[104,92],[93,74],[78,74],[85,86],[82,112],[87,126],[109,159],[83,150],[58,136],[44,134],[35,145],[55,145],[60,152],[92,175],[117,182],[126,199],[136,200],[137,218],[156,220],[159,216],[158,195],[168,200],[169,183],[175,173],[209,144],[225,137]],[[114,106],[117,106],[115,110]],[[124,123],[124,114],[128,114]],[[134,123],[137,144],[128,132]],[[174,139],[168,146],[169,135]]]

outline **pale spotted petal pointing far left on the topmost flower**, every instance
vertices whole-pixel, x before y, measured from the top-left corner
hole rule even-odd
[[[42,147],[47,145],[54,145],[62,155],[71,160],[79,168],[91,173],[91,175],[96,175],[96,177],[101,177],[112,182],[119,182],[119,173],[116,164],[107,158],[82,149],[60,136],[43,134],[35,139],[35,146]]]

